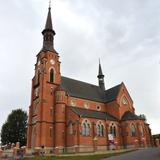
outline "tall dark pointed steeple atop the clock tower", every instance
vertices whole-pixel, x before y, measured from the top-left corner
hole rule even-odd
[[[55,52],[55,50],[54,50],[54,36],[56,33],[52,27],[52,16],[51,16],[50,4],[49,4],[49,8],[48,8],[48,15],[47,15],[45,29],[42,31],[42,34],[43,34],[43,48],[42,48],[42,50]]]

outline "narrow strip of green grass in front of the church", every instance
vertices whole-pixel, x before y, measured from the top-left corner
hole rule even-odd
[[[121,153],[95,154],[95,155],[77,155],[77,156],[61,156],[61,157],[35,157],[26,158],[25,160],[100,160],[102,158],[112,157],[116,155],[125,154],[132,151]]]

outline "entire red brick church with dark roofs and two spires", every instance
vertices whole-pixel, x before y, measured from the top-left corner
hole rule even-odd
[[[135,114],[124,83],[105,89],[100,63],[98,85],[61,75],[50,7],[42,35],[32,79],[27,147],[63,153],[150,146],[145,116]]]

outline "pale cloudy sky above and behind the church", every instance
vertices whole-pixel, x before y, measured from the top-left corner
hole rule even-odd
[[[28,111],[48,1],[0,0],[0,127],[17,108]],[[160,133],[160,1],[53,0],[61,73],[105,86],[124,82],[153,134]]]

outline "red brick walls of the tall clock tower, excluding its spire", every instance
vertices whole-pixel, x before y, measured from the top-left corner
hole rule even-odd
[[[54,58],[55,64],[52,66],[50,64],[50,59]],[[53,120],[54,114],[51,115],[51,109],[54,111],[55,100],[54,100],[54,90],[57,88],[57,84],[60,84],[60,66],[58,61],[58,55],[52,52],[39,53],[37,55],[37,62],[41,60],[41,64],[38,63],[35,65],[35,77],[32,81],[32,93],[31,93],[31,106],[29,112],[29,129],[28,129],[28,140],[27,146],[31,148],[32,145],[32,128],[33,128],[33,118],[34,126],[36,127],[35,135],[35,147],[41,147],[45,145],[47,147],[53,147],[54,139],[53,136],[48,136],[50,128],[54,130]],[[49,82],[49,70],[53,67],[55,71],[55,81],[54,83]],[[36,81],[37,72],[39,74],[39,84]],[[35,96],[35,90],[39,88],[38,96]],[[35,99],[39,101],[37,104],[37,112],[34,113]],[[53,131],[52,131],[53,132]],[[54,134],[54,132],[53,132]]]

